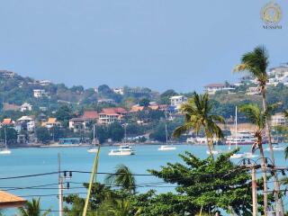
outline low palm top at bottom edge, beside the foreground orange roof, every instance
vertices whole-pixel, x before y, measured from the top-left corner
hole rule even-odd
[[[26,202],[24,207],[19,207],[19,215],[20,216],[47,216],[49,215],[49,211],[44,211],[43,214],[41,214],[40,210],[40,198],[38,199],[32,199],[31,202]]]

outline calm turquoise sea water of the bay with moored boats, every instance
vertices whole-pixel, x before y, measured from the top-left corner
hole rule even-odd
[[[285,146],[285,145],[283,145]],[[129,166],[135,174],[148,174],[147,169],[159,169],[160,166],[165,166],[167,162],[181,162],[178,154],[184,153],[185,150],[192,152],[197,157],[207,157],[205,146],[192,145],[177,145],[175,151],[158,151],[159,146],[139,145],[135,146],[136,155],[130,157],[110,157],[108,152],[112,147],[103,147],[101,149],[98,172],[113,172],[114,167],[119,164]],[[265,146],[266,148],[267,146]],[[114,148],[114,147],[113,147]],[[227,146],[218,147],[222,150],[228,150]],[[242,146],[241,151],[249,151],[249,146]],[[62,170],[79,170],[91,171],[94,154],[88,153],[87,148],[16,148],[12,149],[12,154],[8,156],[0,156],[0,177],[10,177],[17,175],[33,175],[48,172],[58,171],[58,153],[61,155]],[[258,152],[257,152],[258,154]],[[269,156],[269,152],[266,152]],[[284,160],[284,152],[275,152],[277,166],[287,166]],[[235,160],[237,162],[238,160]],[[104,175],[98,175],[97,180],[102,182]],[[64,193],[85,193],[85,188],[81,188],[83,182],[88,182],[89,174],[73,173],[72,179],[67,180],[73,182],[70,184],[71,189],[65,190]],[[137,184],[148,184],[161,182],[154,176],[137,176]],[[31,187],[35,185],[51,184],[40,188],[15,189],[14,187]],[[9,193],[14,193],[31,199],[30,196],[55,194],[51,196],[42,196],[41,209],[51,208],[58,210],[58,175],[41,175],[27,178],[0,180],[0,190],[8,190]],[[9,187],[9,188],[8,188]],[[74,188],[73,188],[74,187]],[[76,187],[76,188],[75,188]],[[140,187],[139,192],[145,192],[149,189],[156,189],[159,193],[174,190],[173,187]],[[85,194],[81,194],[85,196]],[[288,201],[285,200],[285,203]],[[286,204],[287,207],[287,204]],[[13,215],[15,209],[6,211],[6,215]],[[58,215],[58,212],[52,212],[51,215]]]

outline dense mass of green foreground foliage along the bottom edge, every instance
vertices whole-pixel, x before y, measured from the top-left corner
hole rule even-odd
[[[166,184],[175,185],[175,193],[157,193],[154,190],[130,193],[125,187],[114,190],[110,184],[94,184],[88,215],[184,216],[196,215],[201,208],[202,211],[211,213],[225,211],[237,215],[251,215],[250,175],[247,170],[238,169],[230,162],[231,154],[221,155],[214,161],[211,157],[200,159],[186,152],[180,155],[183,163],[169,163],[158,171],[149,171]],[[121,173],[125,172],[121,170]],[[130,171],[128,173],[130,175]],[[121,178],[119,183],[127,184],[123,179],[127,178]],[[85,187],[87,186],[85,184]],[[66,208],[66,215],[81,214],[84,199],[69,195],[65,201],[72,204],[70,211]],[[261,206],[260,196],[258,202]],[[123,211],[125,214],[121,214]]]

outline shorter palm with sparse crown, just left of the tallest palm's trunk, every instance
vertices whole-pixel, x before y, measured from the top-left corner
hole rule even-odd
[[[275,110],[276,104],[269,105],[266,109],[266,112],[261,112],[257,104],[244,104],[239,107],[239,112],[243,112],[247,120],[253,123],[256,126],[256,131],[254,136],[256,138],[255,143],[252,146],[252,152],[259,148],[261,161],[262,161],[262,170],[263,170],[263,181],[264,181],[264,191],[267,192],[267,175],[266,175],[266,159],[263,151],[263,136],[264,130],[266,128],[266,122],[269,121],[272,112]],[[267,193],[263,193],[264,196],[264,207],[265,214],[268,209],[268,200]]]

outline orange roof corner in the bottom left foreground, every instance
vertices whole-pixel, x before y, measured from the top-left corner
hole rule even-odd
[[[22,197],[0,191],[0,209],[21,207],[25,202]]]

